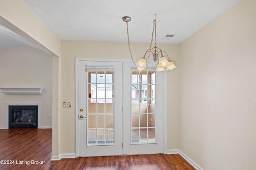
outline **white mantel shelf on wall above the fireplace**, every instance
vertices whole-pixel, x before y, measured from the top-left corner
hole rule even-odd
[[[2,93],[8,94],[42,94],[44,88],[0,88]]]

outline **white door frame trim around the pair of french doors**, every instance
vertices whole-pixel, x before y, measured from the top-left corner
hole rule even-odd
[[[132,62],[130,59],[95,59],[95,58],[75,58],[75,154],[79,157],[79,62],[80,61],[105,61],[105,62]],[[151,63],[151,61],[148,61]],[[164,72],[164,153],[167,153],[167,72]],[[123,114],[123,113],[122,113]]]

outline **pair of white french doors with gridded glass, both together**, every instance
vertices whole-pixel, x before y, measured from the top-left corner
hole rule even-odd
[[[164,152],[164,73],[147,65],[78,62],[79,156]]]

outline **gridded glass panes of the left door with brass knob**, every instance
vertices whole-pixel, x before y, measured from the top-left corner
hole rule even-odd
[[[114,70],[87,77],[87,146],[114,145]]]

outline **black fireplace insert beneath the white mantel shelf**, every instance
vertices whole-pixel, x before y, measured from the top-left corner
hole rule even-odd
[[[38,128],[38,106],[9,106],[9,129]]]

